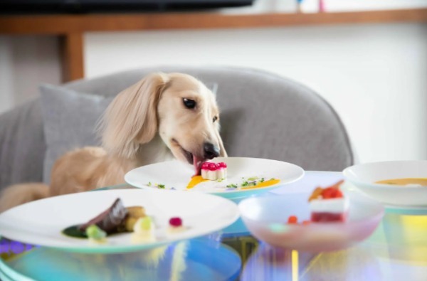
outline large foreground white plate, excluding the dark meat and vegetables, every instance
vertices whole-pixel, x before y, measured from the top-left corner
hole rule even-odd
[[[85,223],[121,198],[125,206],[143,206],[156,222],[157,240],[132,243],[132,233],[107,237],[107,243],[63,235],[68,226]],[[186,230],[168,233],[169,218],[182,218]],[[235,203],[204,193],[159,193],[138,189],[75,193],[26,203],[0,214],[0,234],[23,243],[81,253],[121,253],[154,248],[226,228],[238,218]]]

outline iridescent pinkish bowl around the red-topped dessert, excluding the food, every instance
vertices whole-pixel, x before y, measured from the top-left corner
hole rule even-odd
[[[344,191],[349,198],[345,223],[287,224],[289,216],[309,220],[307,198],[316,186],[329,184],[330,180],[312,184],[307,176],[289,189],[280,189],[280,195],[245,199],[238,205],[241,218],[256,238],[280,248],[315,253],[349,248],[368,238],[384,216],[380,203],[357,191]]]

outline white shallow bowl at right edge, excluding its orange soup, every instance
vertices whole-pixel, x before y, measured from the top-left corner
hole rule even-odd
[[[371,198],[389,206],[427,207],[426,186],[391,186],[376,181],[427,178],[427,161],[384,161],[350,166],[345,179]]]

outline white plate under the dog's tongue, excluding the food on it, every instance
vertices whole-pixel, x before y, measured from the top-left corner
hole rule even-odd
[[[304,175],[304,170],[300,166],[283,161],[244,157],[216,158],[214,161],[227,164],[227,179],[221,182],[205,181],[192,189],[186,189],[186,186],[189,184],[191,176],[194,175],[194,169],[180,161],[167,161],[133,169],[125,175],[125,181],[141,189],[171,191],[173,187],[181,191],[201,191],[225,198],[241,198],[289,184],[301,179]],[[253,176],[280,179],[280,182],[257,189],[245,190],[226,187],[229,184],[241,184],[244,181],[242,178],[247,179]],[[155,184],[163,184],[165,189],[158,189],[154,186]]]

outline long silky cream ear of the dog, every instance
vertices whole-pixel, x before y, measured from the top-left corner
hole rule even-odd
[[[132,159],[139,144],[155,137],[157,104],[168,82],[167,74],[152,73],[112,100],[98,127],[107,152]]]

